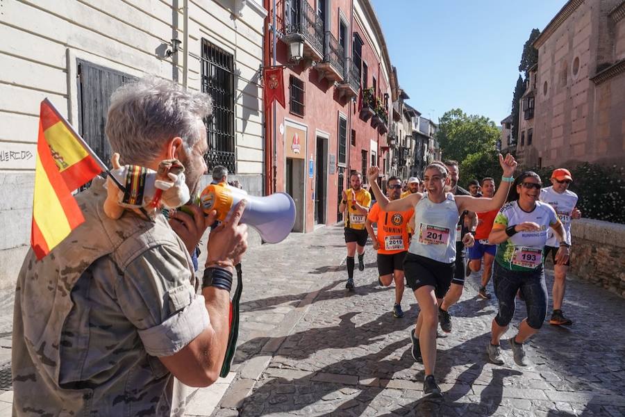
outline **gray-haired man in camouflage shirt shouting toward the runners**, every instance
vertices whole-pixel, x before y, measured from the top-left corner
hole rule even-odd
[[[206,172],[212,101],[171,81],[128,83],[111,97],[106,136],[122,164],[177,159],[191,195]],[[85,221],[41,260],[28,252],[15,291],[13,415],[183,415],[188,386],[215,382],[226,356],[234,265],[247,249],[246,202],[210,233],[202,277],[189,252],[216,213],[169,224],[103,213],[104,179],[76,195]],[[171,227],[170,227],[171,224]],[[172,230],[173,228],[173,230]]]

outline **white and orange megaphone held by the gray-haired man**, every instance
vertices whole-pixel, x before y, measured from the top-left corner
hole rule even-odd
[[[295,224],[295,202],[286,193],[256,197],[227,183],[210,184],[200,195],[200,207],[204,213],[217,211],[217,220],[223,222],[242,200],[247,200],[241,222],[258,230],[267,243],[284,240]]]

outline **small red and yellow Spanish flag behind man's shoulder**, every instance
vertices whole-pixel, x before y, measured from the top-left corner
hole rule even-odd
[[[53,104],[44,99],[40,108],[31,229],[31,247],[37,259],[49,254],[85,221],[72,191],[105,170],[106,165]]]

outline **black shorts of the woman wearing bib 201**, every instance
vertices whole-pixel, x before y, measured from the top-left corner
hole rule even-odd
[[[447,294],[455,269],[456,264],[453,262],[433,261],[425,256],[410,252],[406,254],[406,258],[403,260],[403,274],[406,275],[406,284],[412,288],[412,291],[417,291],[417,288],[422,286],[431,285],[434,287],[437,298],[442,298]]]

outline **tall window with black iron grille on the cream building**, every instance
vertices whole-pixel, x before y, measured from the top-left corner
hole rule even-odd
[[[209,169],[224,165],[235,172],[234,57],[206,39],[202,39],[201,83],[202,92],[213,97],[213,116],[206,121],[206,165]]]

